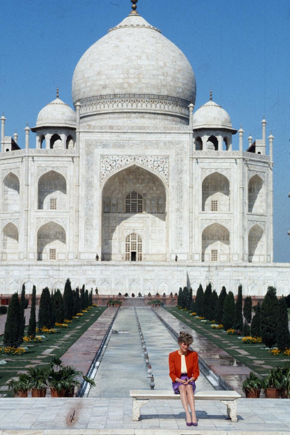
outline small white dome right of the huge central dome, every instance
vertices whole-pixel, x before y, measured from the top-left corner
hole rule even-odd
[[[193,114],[193,128],[199,127],[230,128],[231,130],[233,128],[229,114],[212,100],[203,104]]]

